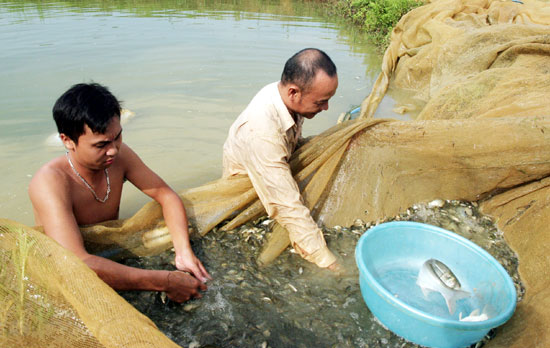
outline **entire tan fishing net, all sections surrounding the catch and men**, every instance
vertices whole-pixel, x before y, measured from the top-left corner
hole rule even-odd
[[[392,34],[361,117],[312,138],[291,158],[305,204],[327,226],[383,219],[435,198],[479,201],[495,216],[519,254],[527,292],[489,347],[550,344],[549,6],[439,0],[411,11]],[[415,121],[372,119],[388,88],[412,96],[399,109],[415,109]],[[265,214],[244,176],[181,197],[202,235]],[[1,225],[3,346],[174,345],[49,238]],[[81,230],[90,252],[113,259],[171,247],[155,202],[129,219]],[[258,261],[269,263],[288,245],[275,225]]]

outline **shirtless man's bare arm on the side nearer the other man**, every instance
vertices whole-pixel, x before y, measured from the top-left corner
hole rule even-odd
[[[202,282],[212,279],[191,249],[187,215],[181,198],[132,149],[124,144],[122,146],[126,178],[162,206],[162,214],[176,251],[176,267],[191,272]]]

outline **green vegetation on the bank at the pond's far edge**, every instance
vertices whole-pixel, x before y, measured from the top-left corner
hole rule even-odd
[[[332,0],[331,12],[358,25],[370,40],[385,49],[401,17],[423,5],[422,0]]]

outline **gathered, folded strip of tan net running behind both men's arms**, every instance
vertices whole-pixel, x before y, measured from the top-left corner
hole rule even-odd
[[[290,160],[304,202],[312,209],[319,204],[351,139],[360,131],[385,120],[351,121],[312,138]],[[229,230],[265,215],[265,210],[247,176],[222,178],[181,193],[193,229],[204,235],[220,225]],[[127,220],[82,227],[86,248],[111,258],[154,255],[171,247],[162,210],[150,202]],[[279,224],[259,262],[269,263],[289,244],[288,232]]]

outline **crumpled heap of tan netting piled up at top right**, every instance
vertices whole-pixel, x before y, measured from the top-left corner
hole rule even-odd
[[[533,0],[439,0],[409,12],[392,32],[370,118],[388,87],[417,119],[547,116],[550,4]]]

